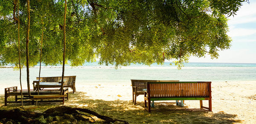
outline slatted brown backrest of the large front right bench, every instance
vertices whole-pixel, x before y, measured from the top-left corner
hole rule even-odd
[[[151,98],[209,97],[211,82],[148,82]]]

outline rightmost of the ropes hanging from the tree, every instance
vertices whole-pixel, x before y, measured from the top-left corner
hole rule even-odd
[[[65,10],[64,10],[64,24],[63,24],[63,66],[62,66],[62,76],[61,76],[61,93],[62,95],[62,90],[64,87],[64,70],[65,70],[65,52],[66,52],[66,12],[67,12],[67,0],[65,0]]]

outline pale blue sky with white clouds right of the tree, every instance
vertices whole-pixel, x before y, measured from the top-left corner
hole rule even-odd
[[[256,0],[244,3],[236,15],[228,17],[231,48],[219,51],[218,59],[192,56],[189,62],[256,63]]]

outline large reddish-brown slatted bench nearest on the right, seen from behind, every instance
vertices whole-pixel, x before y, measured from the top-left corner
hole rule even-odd
[[[150,113],[151,101],[200,100],[200,108],[212,111],[211,82],[148,82],[144,91],[145,109]],[[209,101],[209,107],[202,100]]]

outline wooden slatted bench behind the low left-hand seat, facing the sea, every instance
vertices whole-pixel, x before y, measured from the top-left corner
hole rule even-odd
[[[33,89],[37,90],[38,88],[38,77],[36,78],[36,81],[33,81]],[[56,87],[61,87],[61,76],[54,76],[54,77],[40,77],[40,82],[45,82],[49,84],[40,84],[39,89],[44,89],[44,88],[56,88]],[[58,83],[58,85],[51,85],[52,83]],[[76,92],[76,76],[64,76],[64,87],[70,87],[73,90],[73,93]]]

